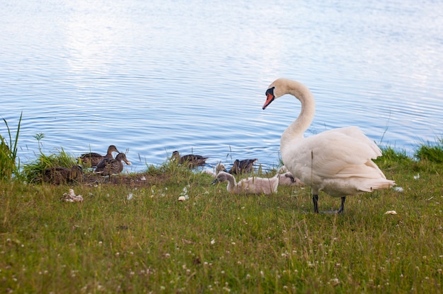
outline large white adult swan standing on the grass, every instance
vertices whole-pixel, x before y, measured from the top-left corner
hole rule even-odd
[[[358,127],[332,129],[304,138],[315,112],[315,101],[302,83],[279,78],[266,90],[263,110],[282,95],[294,95],[301,102],[299,117],[287,127],[280,140],[280,152],[287,169],[312,189],[314,212],[318,213],[318,192],[341,197],[338,213],[343,212],[347,195],[389,189],[395,184],[386,180],[372,159],[381,150]]]

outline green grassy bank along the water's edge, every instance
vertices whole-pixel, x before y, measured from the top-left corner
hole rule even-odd
[[[8,124],[4,120],[8,127]],[[393,189],[312,211],[309,187],[229,194],[166,159],[146,171],[41,182],[63,148],[21,167],[1,134],[1,293],[439,293],[443,139],[374,160]],[[43,134],[35,138],[40,140]],[[15,138],[15,139],[14,139]],[[254,175],[272,177],[276,170]],[[237,180],[242,177],[236,176]],[[72,189],[72,192],[70,191]],[[65,201],[67,194],[83,201]],[[180,201],[178,200],[180,198]],[[321,211],[340,199],[319,194]],[[391,211],[390,213],[387,213]],[[392,214],[395,211],[396,214]]]

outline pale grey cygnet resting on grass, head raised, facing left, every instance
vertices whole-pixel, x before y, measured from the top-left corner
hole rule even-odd
[[[228,189],[228,191],[231,193],[270,195],[277,193],[279,177],[279,174],[270,178],[248,177],[247,179],[241,180],[237,184],[235,177],[229,172],[219,172],[215,180],[212,181],[212,184],[228,181],[228,186],[226,187],[226,189]]]

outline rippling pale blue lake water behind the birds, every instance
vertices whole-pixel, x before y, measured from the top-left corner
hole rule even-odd
[[[357,125],[413,154],[443,136],[442,19],[426,0],[5,0],[0,116],[23,112],[21,163],[42,133],[45,153],[114,144],[131,172],[174,150],[275,167],[300,105],[262,106],[286,77],[316,97],[306,136]]]

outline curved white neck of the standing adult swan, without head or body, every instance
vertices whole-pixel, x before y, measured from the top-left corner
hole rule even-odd
[[[280,140],[282,153],[284,148],[289,146],[291,141],[303,139],[303,134],[309,128],[316,112],[316,102],[309,88],[296,81],[289,81],[285,94],[295,96],[301,102],[299,117],[284,130]]]

